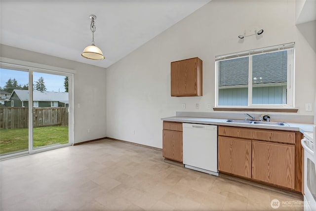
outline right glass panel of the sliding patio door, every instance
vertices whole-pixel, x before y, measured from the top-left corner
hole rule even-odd
[[[68,77],[33,72],[33,150],[69,143]]]

